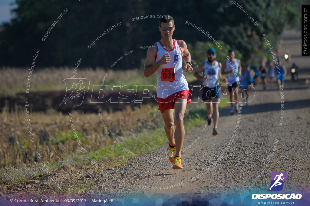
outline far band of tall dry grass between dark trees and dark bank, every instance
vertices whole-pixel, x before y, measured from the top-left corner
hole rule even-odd
[[[35,91],[58,91],[66,90],[64,79],[71,78],[74,68],[42,68],[35,69],[32,72],[30,82],[30,92]],[[0,69],[0,94],[5,96],[12,96],[18,92],[26,90],[28,83],[29,69],[28,68],[11,68],[3,67]],[[133,70],[105,70],[97,67],[92,68],[78,68],[75,78],[87,78],[92,85],[100,85],[104,76],[105,85],[154,85],[156,86],[156,76],[152,75],[145,78],[143,69]],[[193,73],[184,73],[188,82],[195,80]]]

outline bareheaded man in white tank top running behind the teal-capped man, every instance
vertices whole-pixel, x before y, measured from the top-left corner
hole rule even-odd
[[[227,74],[227,83],[231,84],[228,85],[228,91],[230,96],[230,104],[231,104],[231,110],[230,114],[234,114],[239,112],[239,105],[238,105],[238,86],[240,86],[239,83],[239,77],[241,75],[241,63],[240,60],[235,58],[235,52],[232,50],[228,51],[227,60],[223,63],[223,70],[222,74]],[[234,109],[234,103],[235,102],[235,109]]]

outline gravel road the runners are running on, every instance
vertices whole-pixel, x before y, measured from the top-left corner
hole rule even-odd
[[[298,38],[286,41],[284,37],[284,51],[289,41],[299,42]],[[297,46],[294,47],[296,51],[291,44],[289,46],[292,54],[300,50]],[[281,191],[283,193],[310,188],[310,89],[305,83],[305,79],[310,78],[310,71],[305,69],[310,65],[309,58],[297,64],[304,69],[296,83],[290,80],[288,73],[283,108],[276,85],[268,85],[267,91],[262,91],[262,86],[258,86],[249,105],[240,105],[239,116],[230,115],[228,107],[220,110],[219,135],[212,136],[213,126],[204,129],[205,123],[186,131],[183,169],[172,169],[166,146],[136,156],[130,159],[129,164],[107,171],[91,169],[96,165],[99,167],[100,163],[64,166],[54,171],[54,179],[60,187],[94,182],[91,189],[85,190],[81,196],[114,199],[147,195],[170,197],[180,193],[242,195],[247,188],[251,188],[252,193],[266,191],[270,184],[269,172],[288,174]],[[236,126],[238,130],[232,138]],[[269,164],[265,167],[268,159]],[[23,191],[17,188],[24,186],[7,188],[5,195],[27,193],[28,196],[40,196],[40,192],[50,188],[53,182],[43,176],[39,182],[33,181],[27,185],[31,186]]]

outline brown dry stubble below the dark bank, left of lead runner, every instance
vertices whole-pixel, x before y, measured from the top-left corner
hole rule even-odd
[[[156,107],[152,108],[151,105],[143,105],[134,110],[126,107],[123,111],[114,113],[101,110],[109,134],[100,122],[99,113],[84,114],[73,111],[72,120],[84,148],[90,152],[112,145],[114,138],[129,140],[146,128],[157,128],[159,121],[154,120],[159,118],[160,114],[154,108]],[[69,117],[55,110],[47,113],[30,112],[34,142],[30,141],[25,110],[10,113],[4,108],[0,119],[0,167],[8,164],[16,167],[22,163],[32,164],[37,161],[36,150],[47,163],[60,162],[74,153],[83,153],[73,136]]]

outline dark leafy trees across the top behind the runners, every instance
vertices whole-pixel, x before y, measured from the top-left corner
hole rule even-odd
[[[246,14],[250,14],[258,25],[231,1],[222,0],[172,0],[157,1],[74,1],[61,0],[16,0],[13,9],[15,17],[0,29],[0,64],[26,66],[40,49],[37,67],[74,66],[82,57],[82,67],[104,66],[131,69],[141,65],[146,49],[139,47],[153,45],[160,39],[158,18],[134,20],[144,15],[170,14],[175,19],[175,39],[201,47],[201,42],[210,39],[201,31],[185,24],[185,21],[201,27],[216,40],[224,42],[225,48],[239,51],[241,61],[250,63],[260,58],[265,51],[262,34],[267,34],[274,47],[286,25],[300,25],[299,11],[303,1],[289,0],[238,0]],[[51,30],[45,41],[42,37],[56,18],[68,8]],[[91,48],[88,45],[108,28],[120,23],[119,27],[107,32]],[[197,43],[196,42],[200,42]],[[194,52],[194,51],[193,51]],[[198,55],[198,54],[197,54]],[[199,55],[202,55],[199,54]],[[203,55],[203,58],[205,55]],[[196,58],[196,57],[195,57]],[[197,58],[202,58],[198,57]]]

